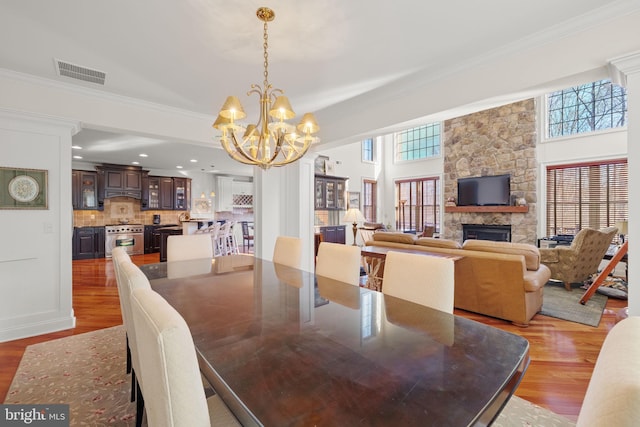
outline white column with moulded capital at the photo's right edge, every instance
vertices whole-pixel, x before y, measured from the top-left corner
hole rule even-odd
[[[612,80],[627,88],[629,165],[629,315],[640,316],[640,52],[610,62]],[[637,169],[638,168],[638,169]],[[637,249],[639,248],[639,249]],[[633,284],[636,284],[634,286]]]

